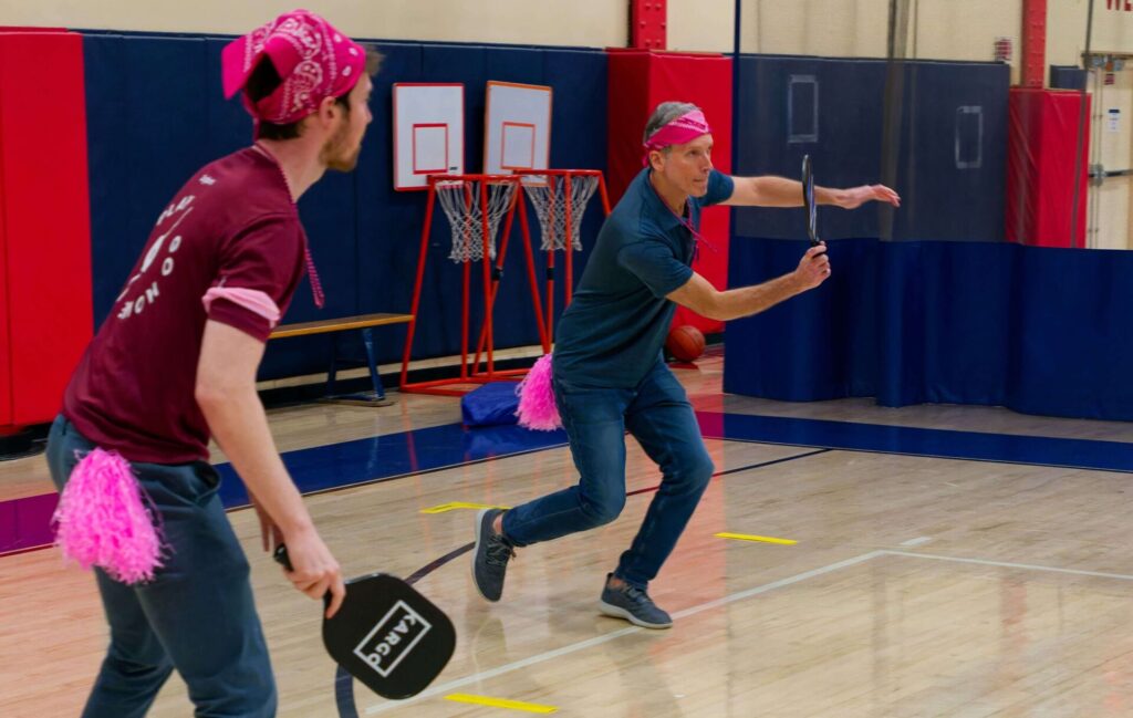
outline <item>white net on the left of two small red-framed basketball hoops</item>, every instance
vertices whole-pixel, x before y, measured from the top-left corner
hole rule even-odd
[[[484,213],[480,204],[480,182],[484,180],[452,180],[436,183],[436,198],[452,228],[452,251],[449,258],[457,263],[479,262],[484,258]],[[495,237],[500,220],[511,208],[516,182],[487,185],[488,258],[495,259]]]

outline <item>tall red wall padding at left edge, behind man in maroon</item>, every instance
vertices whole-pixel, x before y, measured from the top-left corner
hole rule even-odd
[[[0,28],[0,429],[50,421],[91,340],[85,103],[80,35]]]

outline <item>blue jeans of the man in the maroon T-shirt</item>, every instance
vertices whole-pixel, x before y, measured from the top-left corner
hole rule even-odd
[[[62,416],[48,436],[48,465],[61,492],[94,448]],[[176,668],[196,716],[275,715],[275,679],[248,582],[248,561],[216,496],[207,463],[135,463],[170,546],[154,580],[126,585],[95,570],[110,648],[84,718],[144,716]]]

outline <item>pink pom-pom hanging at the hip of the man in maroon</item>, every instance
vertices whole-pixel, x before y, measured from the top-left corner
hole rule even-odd
[[[63,557],[122,583],[153,580],[163,542],[128,461],[95,448],[71,471],[51,518]],[[156,513],[156,512],[154,512]]]

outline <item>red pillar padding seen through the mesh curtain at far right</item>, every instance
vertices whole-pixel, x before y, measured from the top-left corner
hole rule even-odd
[[[1074,165],[1082,93],[1013,87],[1007,129],[1007,240],[1071,246]],[[1085,95],[1074,247],[1085,246],[1090,97]]]

